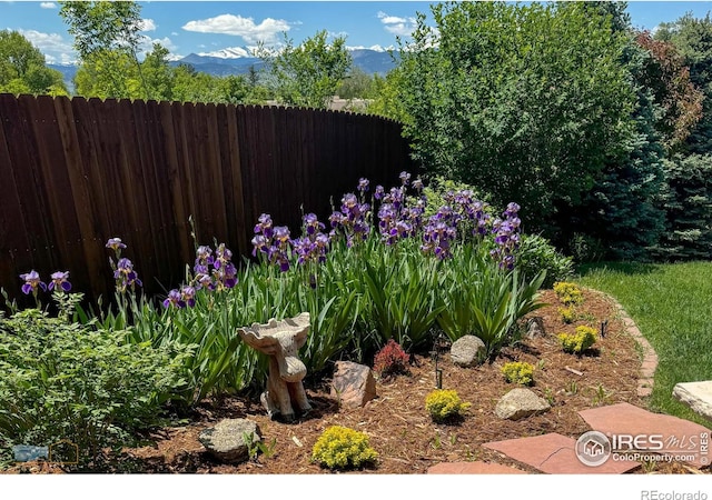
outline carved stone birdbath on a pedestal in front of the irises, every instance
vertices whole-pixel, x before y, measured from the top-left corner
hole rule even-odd
[[[295,419],[295,407],[303,414],[312,410],[301,383],[307,368],[298,358],[309,324],[309,313],[303,312],[295,318],[281,321],[273,318],[266,324],[253,323],[237,329],[248,346],[269,357],[267,390],[260,401],[270,419],[280,416],[290,422]]]

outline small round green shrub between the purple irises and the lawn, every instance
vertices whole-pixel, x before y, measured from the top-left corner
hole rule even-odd
[[[546,279],[542,283],[542,288],[546,289],[568,279],[574,272],[573,259],[560,253],[546,238],[536,234],[522,234],[516,267],[530,279],[546,271]]]

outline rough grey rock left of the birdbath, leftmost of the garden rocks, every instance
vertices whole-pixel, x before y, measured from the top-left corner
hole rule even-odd
[[[225,419],[200,432],[198,440],[218,460],[244,462],[249,459],[246,434],[253,436],[253,442],[261,441],[261,432],[256,422],[247,419]]]

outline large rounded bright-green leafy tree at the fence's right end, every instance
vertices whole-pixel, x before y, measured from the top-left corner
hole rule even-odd
[[[428,169],[525,207],[577,203],[634,130],[626,37],[578,2],[449,2],[402,47],[398,100]]]

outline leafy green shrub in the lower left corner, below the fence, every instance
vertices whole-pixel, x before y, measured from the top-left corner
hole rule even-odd
[[[77,299],[80,300],[80,299]],[[38,309],[0,316],[0,441],[78,446],[81,466],[157,423],[185,352],[126,342]]]

